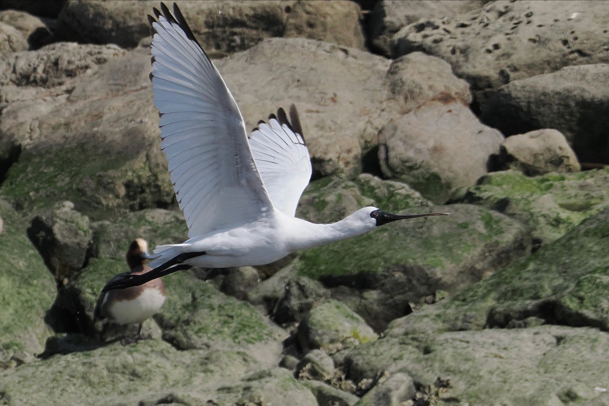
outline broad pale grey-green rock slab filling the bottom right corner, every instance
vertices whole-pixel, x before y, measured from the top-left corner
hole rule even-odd
[[[351,349],[345,362],[356,382],[380,371],[426,386],[450,378],[448,388],[431,393],[435,404],[603,405],[607,345],[609,335],[590,328],[451,331],[383,338]]]

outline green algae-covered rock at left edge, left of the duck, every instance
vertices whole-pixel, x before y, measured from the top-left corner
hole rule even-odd
[[[44,323],[56,289],[26,237],[27,220],[0,200],[0,369],[31,360],[52,332]],[[13,360],[11,360],[13,359]],[[1,382],[2,379],[0,379]],[[0,383],[1,386],[1,383]]]

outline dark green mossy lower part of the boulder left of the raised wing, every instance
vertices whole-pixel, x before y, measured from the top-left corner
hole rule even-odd
[[[86,145],[25,150],[10,167],[1,194],[28,211],[70,200],[95,219],[174,201],[171,183],[149,166],[145,152],[108,153]]]

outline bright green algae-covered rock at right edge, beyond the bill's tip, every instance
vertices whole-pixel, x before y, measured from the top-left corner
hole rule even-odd
[[[450,202],[503,212],[531,229],[537,243],[545,243],[606,208],[608,184],[607,168],[534,178],[507,170],[489,173],[476,186],[455,191]]]

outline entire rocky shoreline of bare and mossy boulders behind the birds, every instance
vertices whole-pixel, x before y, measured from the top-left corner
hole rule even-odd
[[[297,216],[393,223],[165,279],[148,340],[93,308],[186,238],[149,82],[157,2],[0,2],[0,405],[609,405],[609,7],[178,1],[248,128],[295,103]]]

